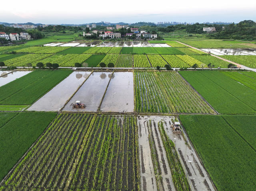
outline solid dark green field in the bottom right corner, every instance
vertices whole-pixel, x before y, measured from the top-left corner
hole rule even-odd
[[[180,119],[219,191],[255,189],[256,151],[251,147],[255,115],[181,115]]]

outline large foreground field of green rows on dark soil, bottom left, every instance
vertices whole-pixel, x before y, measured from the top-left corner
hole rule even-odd
[[[0,188],[140,190],[136,118],[59,114]]]

